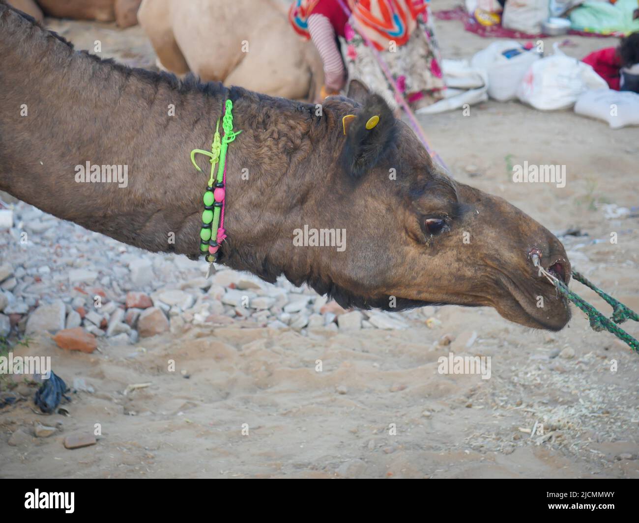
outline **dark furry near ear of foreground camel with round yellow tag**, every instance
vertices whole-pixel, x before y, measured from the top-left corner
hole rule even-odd
[[[359,178],[373,169],[396,139],[396,120],[380,95],[369,95],[346,129],[344,170]]]

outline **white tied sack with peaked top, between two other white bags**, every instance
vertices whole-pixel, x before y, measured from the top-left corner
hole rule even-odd
[[[588,64],[566,56],[557,43],[553,49],[555,54],[533,63],[524,75],[517,89],[521,102],[540,110],[568,109],[585,91],[608,89]]]

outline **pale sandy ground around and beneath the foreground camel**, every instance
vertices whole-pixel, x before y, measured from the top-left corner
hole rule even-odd
[[[141,66],[155,61],[139,27],[52,25],[79,48],[101,38],[104,54]],[[445,57],[468,57],[489,43],[460,22],[438,22],[437,29]],[[576,47],[564,49],[579,57],[613,45],[569,40]],[[516,102],[421,121],[456,179],[501,195],[552,231],[587,234],[564,238],[573,265],[639,308],[638,128],[610,130],[571,111],[543,113]],[[512,183],[509,162],[524,160],[567,165],[566,187]],[[606,204],[631,213],[611,218],[616,208]],[[610,232],[618,233],[616,245]],[[593,292],[581,294],[607,312]],[[590,331],[578,310],[555,334],[486,308],[445,307],[436,317],[442,324],[435,328],[414,321],[409,330],[357,335],[196,327],[91,355],[38,337],[15,354],[49,354],[57,374],[68,382],[83,377],[95,392],[73,394],[69,416],[37,414],[27,400],[0,411],[0,476],[639,477],[638,354]],[[627,330],[639,335],[636,324]],[[459,346],[473,331],[472,347]],[[491,356],[491,379],[438,374],[437,359],[450,348],[437,343],[445,334],[457,338],[456,354]],[[557,356],[565,347],[574,357]],[[167,372],[171,359],[176,372]],[[125,395],[135,383],[150,386]],[[26,397],[34,390],[15,389]],[[63,432],[8,446],[14,430],[38,421],[61,423]],[[65,434],[93,432],[95,423],[102,426],[96,446],[63,447]],[[535,423],[544,424],[544,436],[531,436]]]

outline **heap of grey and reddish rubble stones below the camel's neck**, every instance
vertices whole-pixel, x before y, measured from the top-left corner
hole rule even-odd
[[[1,207],[1,206],[0,206]],[[17,202],[0,229],[0,336],[60,333],[63,348],[179,334],[193,325],[398,330],[426,321],[412,312],[345,311],[307,287],[275,285],[173,254],[151,254]],[[8,213],[5,213],[8,214]]]

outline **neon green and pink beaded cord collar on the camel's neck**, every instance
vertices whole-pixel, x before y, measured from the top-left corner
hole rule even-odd
[[[195,155],[201,154],[209,157],[211,163],[211,174],[204,192],[204,212],[202,213],[202,227],[200,229],[200,254],[205,255],[206,261],[210,263],[209,274],[213,269],[213,262],[218,259],[220,243],[226,238],[224,234],[224,199],[226,196],[226,152],[229,143],[242,131],[233,131],[233,102],[226,100],[222,109],[222,130],[224,134],[220,139],[220,119],[215,125],[215,134],[211,151],[203,149],[193,149],[191,151],[191,162],[202,172],[195,161]],[[215,175],[215,165],[217,164],[217,176]],[[215,237],[213,236],[213,231]]]

